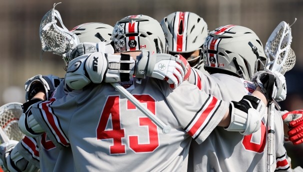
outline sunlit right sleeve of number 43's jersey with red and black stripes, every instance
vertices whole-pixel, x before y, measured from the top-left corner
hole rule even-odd
[[[199,144],[218,125],[229,106],[187,81],[174,90],[167,88],[165,97],[180,125]]]

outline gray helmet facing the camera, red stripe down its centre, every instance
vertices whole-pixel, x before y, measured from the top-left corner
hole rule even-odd
[[[175,12],[160,22],[165,34],[169,54],[181,54],[193,68],[200,68],[202,45],[207,37],[207,24],[198,15],[190,12]],[[199,55],[190,55],[199,50]]]

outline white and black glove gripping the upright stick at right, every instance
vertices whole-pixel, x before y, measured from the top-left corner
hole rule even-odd
[[[285,77],[278,72],[260,71],[253,74],[252,82],[261,87],[267,100],[283,101],[286,98]]]

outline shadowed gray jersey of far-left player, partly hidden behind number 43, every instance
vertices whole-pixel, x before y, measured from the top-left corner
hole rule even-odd
[[[66,95],[61,82],[53,98]],[[25,136],[17,145],[20,154],[40,171],[74,171],[73,158],[70,148],[60,149],[48,138],[46,133],[36,138]]]

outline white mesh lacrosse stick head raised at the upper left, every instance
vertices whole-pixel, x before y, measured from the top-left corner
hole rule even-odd
[[[53,54],[63,57],[65,64],[68,64],[68,60],[65,59],[64,54],[79,44],[78,37],[69,32],[63,25],[61,16],[58,11],[53,9],[48,11],[41,20],[39,28],[39,36],[42,46],[42,52],[48,51]],[[57,25],[59,21],[60,26]]]

